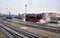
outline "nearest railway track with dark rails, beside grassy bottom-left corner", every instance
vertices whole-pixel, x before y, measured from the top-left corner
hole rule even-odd
[[[0,27],[1,27],[1,32],[6,36],[6,38],[18,38],[18,37],[22,38],[22,36],[19,36],[16,33],[9,31],[8,29],[2,27],[1,25]]]

